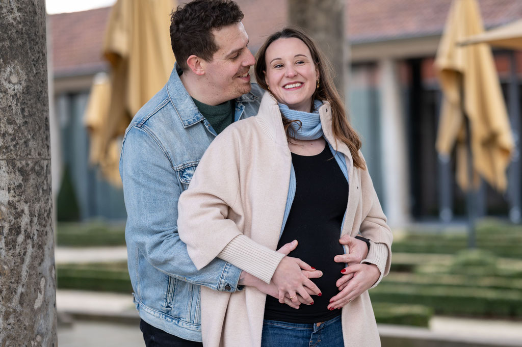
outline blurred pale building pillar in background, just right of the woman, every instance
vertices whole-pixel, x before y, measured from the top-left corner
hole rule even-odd
[[[408,149],[406,119],[402,105],[397,64],[385,58],[381,72],[381,149],[383,158],[384,206],[388,224],[401,226],[409,221]]]

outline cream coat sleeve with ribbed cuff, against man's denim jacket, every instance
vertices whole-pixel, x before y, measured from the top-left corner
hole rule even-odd
[[[179,233],[196,268],[219,257],[269,283],[284,255],[252,241],[229,219],[240,195],[239,151],[233,129],[212,141],[180,196]]]

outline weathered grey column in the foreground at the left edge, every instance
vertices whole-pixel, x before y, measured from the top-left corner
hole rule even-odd
[[[0,0],[0,346],[56,346],[44,0]]]

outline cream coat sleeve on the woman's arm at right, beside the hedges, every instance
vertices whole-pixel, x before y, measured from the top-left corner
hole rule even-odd
[[[386,276],[390,269],[392,258],[392,241],[393,235],[388,224],[386,224],[386,216],[379,203],[379,198],[373,187],[372,178],[368,170],[359,170],[361,175],[362,189],[362,212],[363,220],[361,222],[360,233],[370,240],[370,250],[366,259],[362,262],[375,264],[381,276],[372,286],[376,286],[381,279]]]

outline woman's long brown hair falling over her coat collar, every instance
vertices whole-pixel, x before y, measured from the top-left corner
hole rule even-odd
[[[345,105],[341,101],[341,97],[339,96],[339,93],[337,92],[337,89],[334,85],[334,80],[331,74],[331,64],[329,63],[328,59],[323,55],[323,53],[319,51],[317,45],[312,40],[312,38],[309,35],[307,35],[303,30],[296,27],[286,27],[283,30],[270,35],[270,37],[260,47],[256,54],[256,64],[254,66],[254,71],[257,83],[261,88],[270,92],[265,81],[266,50],[272,42],[278,39],[289,38],[299,39],[303,41],[303,43],[309,48],[315,66],[319,70],[319,88],[315,90],[314,95],[312,96],[312,102],[313,100],[317,99],[321,101],[328,101],[330,103],[332,133],[334,134],[336,141],[346,143],[352,155],[353,165],[355,167],[359,167],[360,169],[365,170],[366,165],[361,155],[359,154],[359,150],[361,149],[362,145],[361,139],[348,123]],[[292,127],[290,126],[292,122],[293,121],[289,121],[288,119],[283,117],[283,126],[289,141],[295,140]]]

